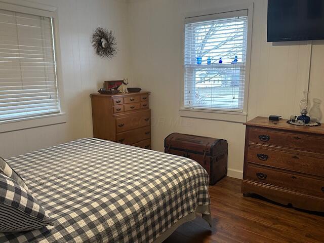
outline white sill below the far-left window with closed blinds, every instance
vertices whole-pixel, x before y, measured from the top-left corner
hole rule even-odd
[[[65,113],[0,121],[0,133],[66,123]]]

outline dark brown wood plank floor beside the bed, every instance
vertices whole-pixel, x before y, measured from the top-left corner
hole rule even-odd
[[[241,180],[224,178],[210,187],[213,227],[197,217],[180,226],[165,243],[324,242],[324,214],[243,197]]]

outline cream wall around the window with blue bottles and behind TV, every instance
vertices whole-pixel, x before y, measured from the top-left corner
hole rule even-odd
[[[245,126],[225,121],[184,118],[179,115],[183,80],[183,14],[207,9],[254,5],[248,119],[299,112],[307,86],[307,42],[272,45],[266,42],[266,0],[130,0],[132,78],[152,92],[152,147],[163,150],[172,132],[223,138],[229,143],[228,175],[241,177]],[[311,95],[324,100],[324,42],[313,42]]]

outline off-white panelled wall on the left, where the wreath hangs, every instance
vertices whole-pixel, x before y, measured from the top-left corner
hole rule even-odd
[[[15,0],[16,1],[16,0]],[[127,3],[124,0],[20,1],[58,8],[62,78],[67,122],[0,133],[0,156],[9,157],[82,137],[92,137],[91,100],[104,80],[129,75]],[[118,54],[111,60],[94,54],[91,35],[96,27],[114,31]],[[1,126],[1,125],[0,125]]]

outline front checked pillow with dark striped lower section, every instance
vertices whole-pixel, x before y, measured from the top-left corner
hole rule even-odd
[[[17,232],[53,225],[28,190],[0,173],[0,232]]]

